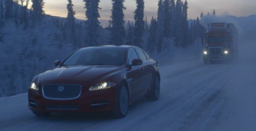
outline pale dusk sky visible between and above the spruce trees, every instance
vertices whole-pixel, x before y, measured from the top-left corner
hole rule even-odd
[[[183,0],[185,1],[185,0]],[[52,16],[67,17],[67,0],[44,0],[45,12]],[[85,9],[83,0],[72,0],[74,4],[75,17],[77,19],[85,19]],[[145,2],[145,16],[148,22],[152,16],[156,16],[158,9],[158,0],[144,0]],[[209,12],[212,14],[213,9],[216,15],[234,15],[234,16],[249,16],[256,14],[256,0],[187,0],[188,2],[188,18],[196,19],[203,12],[205,15]],[[111,16],[112,4],[111,0],[100,0],[99,7],[102,8],[100,13],[100,22],[102,26],[107,26],[107,21]],[[134,19],[134,10],[136,8],[135,0],[125,0],[124,11],[125,20]]]

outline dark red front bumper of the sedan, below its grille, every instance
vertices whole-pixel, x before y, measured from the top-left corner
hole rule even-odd
[[[28,108],[40,112],[98,112],[112,111],[117,100],[118,87],[89,91],[82,88],[80,97],[73,100],[51,100],[39,91],[28,91]]]

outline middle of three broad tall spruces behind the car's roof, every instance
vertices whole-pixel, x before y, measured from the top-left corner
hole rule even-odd
[[[124,0],[111,0],[113,3],[112,7],[112,28],[110,30],[110,41],[111,45],[123,45],[125,39],[124,30]]]

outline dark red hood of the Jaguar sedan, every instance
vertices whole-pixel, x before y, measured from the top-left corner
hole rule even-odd
[[[41,83],[46,81],[91,81],[101,80],[111,74],[115,74],[123,69],[123,66],[63,66],[48,70],[41,75]],[[94,80],[95,81],[95,80]]]

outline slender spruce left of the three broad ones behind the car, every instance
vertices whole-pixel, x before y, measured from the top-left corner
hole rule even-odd
[[[74,15],[76,12],[73,10],[73,4],[72,0],[68,0],[69,4],[67,4],[67,10],[68,10],[68,15],[67,15],[67,38],[68,41],[72,42],[74,48],[76,48],[76,31],[75,31],[75,20],[76,18]]]

